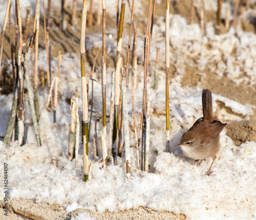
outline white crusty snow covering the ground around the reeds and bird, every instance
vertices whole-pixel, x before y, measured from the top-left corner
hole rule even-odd
[[[23,7],[31,5],[33,1],[20,1]],[[107,1],[112,4],[114,1]],[[216,7],[214,1],[209,1],[207,7]],[[107,8],[110,7],[109,5]],[[14,8],[14,7],[13,7]],[[138,6],[139,8],[139,6]],[[3,14],[1,10],[1,15]],[[24,9],[22,9],[24,10]],[[1,16],[1,19],[3,16]],[[162,21],[164,20],[161,18]],[[156,21],[157,22],[157,21]],[[2,23],[1,23],[2,24]],[[74,98],[75,87],[79,87],[80,93],[80,63],[78,54],[64,54],[61,63],[61,76],[59,82],[59,100],[57,106],[57,123],[53,124],[52,112],[45,109],[47,90],[39,90],[40,120],[39,129],[42,146],[36,145],[33,128],[30,126],[27,143],[22,147],[17,142],[5,146],[0,141],[0,168],[4,163],[9,169],[9,188],[11,199],[32,199],[36,203],[46,202],[59,204],[72,212],[77,208],[84,208],[97,212],[117,212],[127,209],[136,209],[139,206],[151,208],[157,211],[170,211],[183,213],[189,219],[251,219],[256,216],[256,143],[246,142],[241,146],[235,146],[232,140],[221,135],[221,150],[214,166],[213,173],[205,175],[211,159],[202,161],[199,166],[192,166],[192,159],[182,155],[179,147],[175,147],[184,133],[196,119],[202,117],[201,87],[189,89],[181,86],[181,78],[185,74],[186,55],[197,56],[201,70],[211,68],[219,77],[224,72],[234,82],[249,81],[255,83],[256,68],[256,36],[251,33],[238,31],[234,36],[231,29],[223,35],[215,35],[213,24],[207,24],[207,36],[201,37],[200,27],[197,24],[188,26],[186,19],[179,15],[170,15],[170,40],[173,48],[171,60],[176,61],[180,67],[175,78],[170,84],[170,114],[172,115],[170,137],[172,141],[172,153],[165,150],[165,111],[164,86],[159,86],[158,91],[151,91],[151,137],[150,137],[150,173],[137,170],[135,150],[131,148],[131,178],[126,179],[125,159],[118,159],[117,166],[102,168],[100,145],[99,157],[93,157],[93,140],[89,140],[89,158],[93,163],[92,179],[83,182],[82,173],[82,146],[80,144],[78,168],[74,167],[74,160],[68,161],[68,134],[70,122],[70,108],[67,98]],[[164,23],[158,23],[154,27],[155,36],[161,39],[152,42],[152,50],[155,46],[164,48]],[[161,34],[159,34],[159,32]],[[100,47],[100,39],[90,36],[93,45]],[[115,39],[108,39],[115,45]],[[88,45],[89,45],[88,41]],[[142,41],[140,46],[142,46]],[[210,43],[211,50],[206,49]],[[92,45],[91,45],[92,46]],[[238,59],[233,65],[234,57],[231,54],[236,48]],[[87,47],[90,50],[90,47]],[[110,53],[115,53],[109,48]],[[151,54],[151,60],[155,58],[155,52]],[[77,59],[78,57],[78,59]],[[161,51],[164,57],[164,50]],[[226,60],[220,62],[218,67],[211,65],[212,60]],[[45,66],[45,51],[40,51],[38,65]],[[52,61],[53,71],[57,72],[57,58]],[[91,71],[87,67],[87,71]],[[139,65],[138,65],[139,69]],[[246,76],[241,77],[240,70],[246,71]],[[111,69],[108,69],[111,73]],[[100,76],[100,73],[95,73]],[[160,71],[159,84],[164,84],[164,72]],[[204,74],[204,73],[202,73]],[[149,80],[150,81],[150,80]],[[107,90],[110,91],[111,79],[107,79]],[[149,83],[151,86],[151,83]],[[137,129],[140,123],[142,105],[143,82],[139,82],[135,93],[135,111]],[[101,85],[94,83],[94,110],[101,112]],[[127,90],[128,94],[131,93]],[[90,95],[91,96],[91,95]],[[128,112],[130,125],[132,118],[132,97],[128,98]],[[234,113],[249,118],[253,115],[255,106],[241,104],[221,95],[212,94],[214,111],[217,110],[216,101],[221,101],[226,107],[230,107]],[[13,95],[0,96],[0,136],[4,136],[8,123],[8,116],[12,105]],[[107,109],[110,108],[110,93],[107,95]],[[224,110],[223,110],[224,111]],[[159,114],[156,114],[159,113]],[[109,114],[109,112],[107,113]],[[79,115],[81,118],[81,98],[79,95]],[[99,117],[99,115],[97,115]],[[222,122],[226,120],[238,120],[239,116],[218,112]],[[94,128],[96,117],[93,118]],[[109,125],[108,125],[109,126]],[[98,137],[101,135],[101,121],[97,127]],[[94,129],[91,129],[93,137]],[[133,133],[130,131],[131,144],[134,144]],[[98,143],[100,139],[98,138]],[[123,155],[124,156],[124,155]],[[52,165],[52,158],[57,158],[57,167]],[[0,173],[1,180],[3,172]],[[3,200],[4,192],[0,192],[0,200]],[[94,219],[88,213],[80,213],[72,219]]]

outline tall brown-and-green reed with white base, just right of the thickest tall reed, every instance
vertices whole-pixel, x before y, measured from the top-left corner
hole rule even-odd
[[[102,0],[102,135],[101,147],[103,165],[108,166],[108,150],[106,149],[106,1]]]

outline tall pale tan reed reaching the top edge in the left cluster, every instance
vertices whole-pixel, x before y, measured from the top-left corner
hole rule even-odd
[[[37,98],[37,85],[38,85],[38,42],[39,42],[39,21],[40,21],[40,1],[36,1],[36,16],[35,16],[35,60],[34,60],[34,101],[35,101],[35,113],[37,121],[39,121],[39,103]],[[35,29],[35,28],[34,28]],[[35,31],[34,31],[35,32]]]

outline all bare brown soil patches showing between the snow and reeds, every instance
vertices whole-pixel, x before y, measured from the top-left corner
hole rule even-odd
[[[146,1],[144,1],[146,2]],[[145,4],[143,14],[147,14],[147,3]],[[156,8],[156,15],[162,16],[163,12],[165,13],[165,4],[159,4]],[[172,5],[170,6],[170,13],[180,14],[183,17],[188,18],[188,14],[190,14],[190,0],[183,1],[172,1]],[[61,53],[80,53],[80,14],[77,13],[77,22],[75,25],[72,25],[69,20],[71,17],[71,9],[67,8],[65,13],[65,19],[67,19],[67,28],[64,31],[60,31],[58,26],[60,22],[60,14],[59,12],[52,13],[52,21],[51,28],[48,29],[50,35],[50,44],[52,47],[51,55],[52,57],[58,56],[58,52]],[[216,20],[216,12],[206,11],[206,21],[215,21]],[[135,15],[136,18],[136,15]],[[144,31],[146,24],[144,24],[144,18],[137,17],[139,20],[137,23],[137,29],[141,32]],[[113,17],[107,14],[106,18],[107,24],[106,26],[110,29],[116,28],[116,21],[113,20]],[[141,22],[140,22],[141,21]],[[200,22],[200,9],[195,9],[195,23]],[[23,21],[25,24],[25,20]],[[45,49],[45,36],[44,36],[44,21],[40,21],[40,38],[39,38],[39,50]],[[124,30],[129,30],[129,25],[125,24],[126,27]],[[244,21],[242,25],[245,31],[251,31],[255,33],[254,25],[249,21]],[[23,27],[24,31],[25,27]],[[14,26],[12,27],[12,33],[14,33]],[[95,34],[101,33],[101,27],[96,25],[96,15],[93,16],[93,25],[91,28],[86,29],[87,34]],[[224,21],[221,23],[220,33],[224,31]],[[33,21],[31,20],[29,26],[29,37],[33,33]],[[126,33],[127,34],[127,33]],[[143,33],[141,34],[143,35]],[[14,36],[14,34],[13,34]],[[1,36],[2,37],[2,36]],[[7,30],[5,33],[5,42],[4,42],[4,50],[3,50],[3,60],[4,63],[2,65],[3,71],[1,75],[1,86],[2,86],[2,94],[9,94],[13,92],[13,75],[9,71],[9,66],[7,65],[6,60],[11,58],[10,53],[10,33],[9,27],[7,26]],[[13,42],[15,43],[15,39],[13,37]],[[93,66],[94,59],[98,52],[99,48],[93,48],[91,53],[87,53],[86,62],[91,67]],[[24,51],[26,51],[26,46],[24,47]],[[99,52],[101,53],[101,51]],[[126,54],[124,52],[124,54]],[[191,59],[187,57],[187,59]],[[114,57],[110,54],[107,54],[107,66],[114,67]],[[98,56],[96,60],[96,66],[101,66],[101,56]],[[161,67],[160,67],[161,68]],[[163,67],[162,67],[163,68]],[[172,78],[176,74],[176,70],[179,67],[176,67],[174,64],[170,64],[170,78]],[[210,89],[213,93],[222,95],[232,100],[236,100],[242,104],[249,103],[251,105],[256,106],[256,91],[253,87],[240,83],[236,84],[232,80],[230,80],[227,76],[223,75],[221,78],[217,77],[217,75],[209,70],[200,71],[199,67],[195,63],[195,65],[187,66],[185,69],[186,74],[182,79],[182,86],[188,87],[196,87],[201,86],[204,88]],[[204,73],[206,78],[202,80],[202,75],[200,73]],[[228,85],[228,86],[226,86]],[[250,94],[250,96],[248,96]],[[225,108],[228,113],[234,114],[231,109],[225,107],[225,105],[221,102],[218,102],[219,108]],[[243,120],[243,121],[235,121],[229,122],[226,126],[227,135],[233,140],[233,143],[236,145],[240,145],[241,143],[245,143],[245,141],[256,141],[255,130],[255,113],[251,116],[251,120]],[[241,116],[242,117],[242,116]],[[243,118],[243,117],[242,117]],[[96,219],[185,219],[185,216],[179,214],[175,215],[170,212],[156,212],[150,209],[146,209],[143,207],[138,208],[137,210],[127,210],[118,213],[95,213],[90,212],[88,210],[76,209],[72,213],[67,213],[66,210],[58,205],[49,206],[45,203],[36,204],[31,200],[12,200],[10,201],[10,212],[9,217],[5,218],[3,208],[0,208],[0,218],[1,219],[70,219],[72,216],[77,215],[80,212],[89,212],[90,215],[94,216]],[[3,205],[1,204],[1,207]],[[22,217],[27,216],[27,218]]]

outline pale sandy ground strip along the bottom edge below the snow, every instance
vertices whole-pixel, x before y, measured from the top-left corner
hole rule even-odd
[[[167,220],[183,220],[185,216],[182,214],[175,215],[171,212],[157,212],[151,209],[140,207],[136,210],[120,211],[117,213],[103,212],[96,213],[84,209],[76,209],[73,212],[66,212],[66,210],[59,205],[49,206],[46,203],[36,204],[32,200],[12,200],[10,201],[8,217],[5,216],[3,203],[0,204],[0,218],[3,220],[19,220],[19,219],[59,219],[67,220],[78,215],[81,212],[88,212],[92,217],[97,220],[100,219],[167,219]]]

